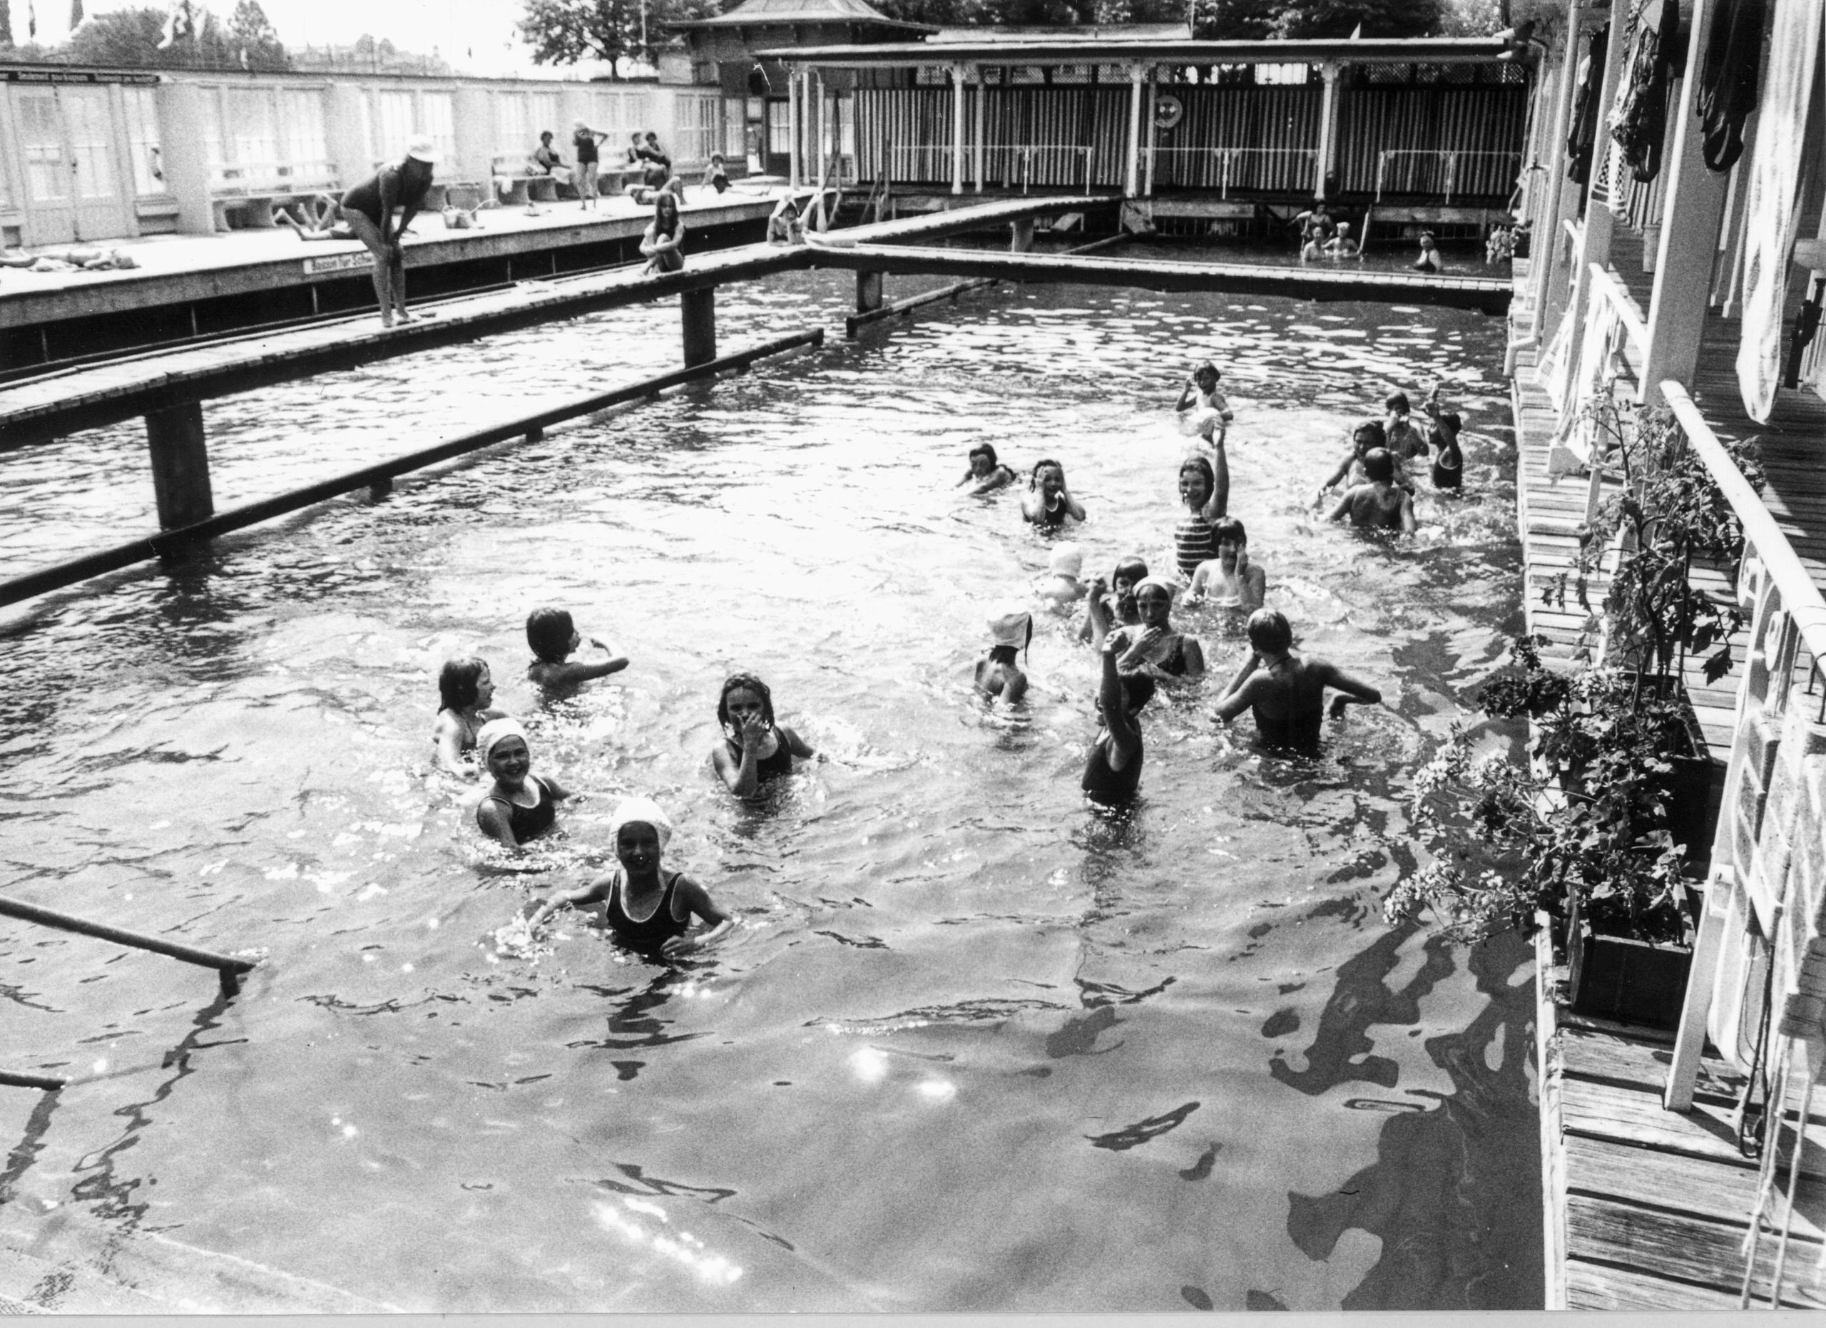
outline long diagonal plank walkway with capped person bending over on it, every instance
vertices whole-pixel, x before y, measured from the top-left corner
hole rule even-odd
[[[862,241],[937,239],[1050,212],[1083,212],[1114,201],[1012,199],[856,227],[845,234]],[[818,259],[820,250],[811,247],[743,245],[692,256],[683,272],[666,276],[645,276],[639,265],[630,265],[575,278],[522,281],[511,290],[447,301],[433,318],[391,329],[380,327],[378,318],[365,312],[334,323],[53,373],[0,389],[0,451],[119,424],[179,402],[226,396],[555,318],[800,270],[814,267]]]

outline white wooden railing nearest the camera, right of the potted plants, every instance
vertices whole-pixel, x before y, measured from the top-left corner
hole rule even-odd
[[[1775,1228],[1773,1304],[1806,1151],[1782,1122],[1795,1107],[1797,1120],[1806,1120],[1826,1067],[1826,687],[1813,694],[1826,659],[1826,599],[1693,398],[1673,382],[1662,384],[1662,396],[1744,528],[1737,595],[1749,612],[1705,912],[1665,1105],[1693,1109],[1707,1038],[1766,1085],[1769,1123],[1744,1251],[1746,1266],[1755,1266],[1764,1224]],[[1746,1277],[1746,1304],[1749,1284]]]

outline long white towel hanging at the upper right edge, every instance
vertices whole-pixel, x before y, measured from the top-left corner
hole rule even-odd
[[[1782,303],[1822,18],[1821,0],[1775,0],[1771,9],[1769,84],[1757,113],[1744,206],[1744,331],[1737,347],[1744,409],[1760,424],[1769,422],[1775,385],[1782,380]]]

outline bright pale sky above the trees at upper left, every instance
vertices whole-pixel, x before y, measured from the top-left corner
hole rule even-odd
[[[86,0],[89,15],[166,0]],[[38,42],[55,46],[69,35],[69,0],[11,0],[15,38],[26,40],[27,5],[38,15]],[[236,0],[203,0],[219,18]],[[347,46],[362,33],[391,38],[407,51],[433,47],[464,73],[533,71],[531,53],[513,24],[519,0],[259,0],[287,46]],[[550,73],[550,71],[546,71]]]

